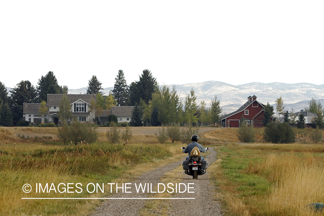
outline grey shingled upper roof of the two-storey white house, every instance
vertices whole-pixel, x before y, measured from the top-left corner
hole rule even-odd
[[[95,100],[95,102],[97,101],[97,96],[96,94],[87,94],[87,95],[79,95],[79,94],[67,94],[66,95],[69,98],[69,101],[71,103],[81,99],[84,102],[86,102],[87,104],[90,104],[90,101],[92,99]],[[47,104],[48,106],[59,106],[61,104],[61,100],[62,100],[63,94],[47,94]]]

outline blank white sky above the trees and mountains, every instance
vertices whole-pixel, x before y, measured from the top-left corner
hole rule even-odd
[[[1,1],[0,81],[324,84],[324,1]]]

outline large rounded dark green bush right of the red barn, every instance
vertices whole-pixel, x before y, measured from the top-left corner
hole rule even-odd
[[[295,142],[295,132],[286,122],[270,122],[264,129],[263,139],[272,143],[293,143]]]

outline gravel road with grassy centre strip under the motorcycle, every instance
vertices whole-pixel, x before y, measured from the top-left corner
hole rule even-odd
[[[208,155],[207,161],[211,165],[216,161],[217,152],[213,148],[208,150],[210,154]],[[185,159],[186,156],[184,156]],[[183,160],[184,160],[183,159]],[[152,183],[156,185],[160,183],[159,179],[164,176],[166,172],[170,172],[175,169],[177,166],[182,165],[182,161],[177,161],[173,164],[164,165],[155,170],[144,173],[142,176],[139,176],[137,180],[131,182],[129,185],[131,188],[128,191],[132,193],[117,193],[110,195],[109,198],[147,198],[151,197],[152,193],[137,193],[135,183],[139,185],[142,183]],[[207,174],[198,176],[198,180],[193,180],[192,176],[184,174],[183,171],[174,171],[177,173],[177,182],[179,183],[194,183],[194,193],[186,193],[190,198],[195,199],[165,199],[164,204],[170,206],[167,210],[168,215],[225,215],[222,212],[221,204],[214,199],[215,188],[209,180],[209,173],[207,169]],[[120,187],[120,186],[118,186]],[[120,189],[121,190],[121,189]],[[153,190],[154,191],[154,190]],[[185,193],[175,193],[172,198],[183,198]],[[90,216],[115,216],[115,215],[139,215],[138,212],[140,209],[144,208],[145,202],[148,199],[108,199],[102,202],[102,204],[95,210]],[[154,213],[158,215],[158,212]]]

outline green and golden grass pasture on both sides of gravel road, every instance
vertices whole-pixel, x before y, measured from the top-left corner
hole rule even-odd
[[[158,143],[156,127],[132,127],[132,140],[118,145],[107,144],[107,129],[98,128],[101,143],[63,145],[57,128],[0,128],[0,215],[86,215],[101,200],[21,198],[105,197],[106,183],[136,179],[183,156],[179,149],[186,144]],[[263,129],[250,144],[239,143],[235,128],[200,130],[200,143],[218,152],[208,170],[220,192],[215,199],[224,202],[227,215],[316,214],[303,208],[324,201],[324,146],[311,142],[311,129],[295,130],[293,144],[263,143]],[[53,183],[55,189],[36,193],[36,183]],[[68,191],[68,183],[73,183],[69,192],[55,193]],[[89,183],[105,183],[105,193],[85,191]],[[32,186],[30,193],[23,192],[25,184]]]

